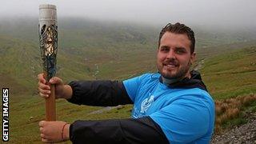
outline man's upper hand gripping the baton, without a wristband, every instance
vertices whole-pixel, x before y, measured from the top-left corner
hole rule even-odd
[[[50,84],[55,85],[55,97],[56,98],[71,98],[72,88],[68,85],[64,85],[61,78],[50,78]],[[50,86],[46,84],[46,79],[43,74],[38,74],[38,90],[42,98],[48,98],[50,94]]]

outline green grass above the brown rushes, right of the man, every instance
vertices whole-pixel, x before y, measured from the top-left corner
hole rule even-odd
[[[256,46],[206,60],[202,78],[216,99],[256,93]]]

